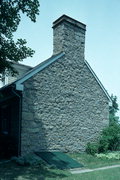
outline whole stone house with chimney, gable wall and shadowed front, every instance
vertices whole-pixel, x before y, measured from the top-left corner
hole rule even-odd
[[[84,58],[85,31],[85,24],[61,16],[53,23],[53,56],[1,88],[7,154],[84,151],[108,126],[110,97]]]

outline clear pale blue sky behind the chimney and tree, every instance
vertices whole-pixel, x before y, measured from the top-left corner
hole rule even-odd
[[[52,23],[63,14],[86,24],[85,59],[120,107],[120,0],[40,0],[37,22],[23,15],[14,33],[35,50],[22,63],[35,66],[52,55]]]

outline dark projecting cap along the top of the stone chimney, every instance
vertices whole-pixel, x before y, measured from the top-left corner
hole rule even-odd
[[[79,28],[82,28],[83,30],[86,30],[86,25],[67,16],[67,15],[62,15],[61,17],[59,17],[56,21],[53,22],[53,28],[56,27],[57,25],[59,25],[62,22],[69,22],[70,24],[77,26]]]

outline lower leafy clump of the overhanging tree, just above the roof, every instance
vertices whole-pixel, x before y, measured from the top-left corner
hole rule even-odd
[[[2,38],[1,45],[0,73],[7,69],[12,75],[16,74],[17,71],[12,66],[13,62],[22,61],[34,54],[32,49],[26,47],[26,41],[22,39],[18,39],[15,43],[13,39]]]

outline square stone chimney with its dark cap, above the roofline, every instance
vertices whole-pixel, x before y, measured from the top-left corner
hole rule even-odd
[[[66,15],[53,22],[53,54],[84,60],[86,25]],[[78,59],[78,58],[77,58]]]

